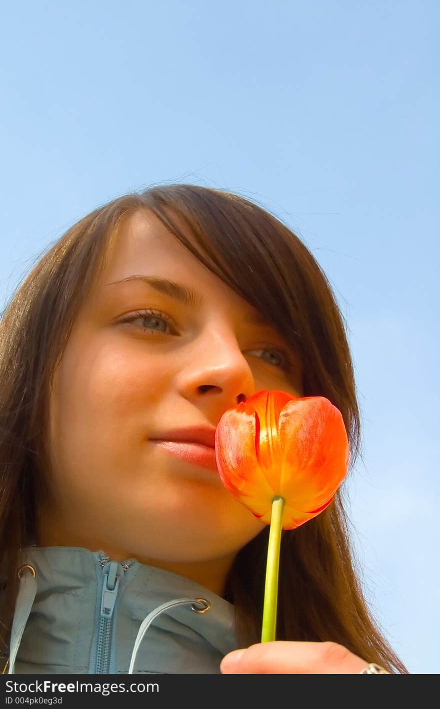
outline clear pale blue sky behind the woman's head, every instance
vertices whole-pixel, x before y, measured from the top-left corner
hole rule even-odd
[[[439,3],[70,3],[2,9],[0,305],[96,206],[152,183],[257,199],[349,323],[368,598],[440,673]],[[434,201],[435,199],[435,201]]]

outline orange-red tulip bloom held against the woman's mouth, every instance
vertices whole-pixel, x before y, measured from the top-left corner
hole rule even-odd
[[[283,529],[325,510],[349,461],[339,409],[286,391],[258,391],[225,411],[215,451],[222,483],[261,522],[270,523],[273,498],[283,498]]]

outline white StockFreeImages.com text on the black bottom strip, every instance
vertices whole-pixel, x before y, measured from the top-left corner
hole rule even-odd
[[[43,692],[43,693],[81,693],[81,692],[91,692],[99,693],[104,697],[112,693],[118,692],[158,692],[159,684],[157,682],[149,682],[145,684],[144,682],[132,682],[130,684],[124,684],[123,682],[103,682],[99,684],[98,682],[51,682],[45,679],[43,682],[35,680],[35,682],[13,682],[11,680],[6,681],[6,692]],[[8,699],[8,698],[6,698]],[[12,699],[12,697],[9,697]],[[9,703],[6,701],[6,703]]]

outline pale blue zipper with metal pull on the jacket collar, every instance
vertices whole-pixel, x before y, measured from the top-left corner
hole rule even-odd
[[[113,610],[118,597],[120,582],[125,571],[130,568],[131,562],[111,562],[108,557],[102,555],[100,563],[103,572],[103,588],[96,644],[95,674],[109,674],[114,619]]]

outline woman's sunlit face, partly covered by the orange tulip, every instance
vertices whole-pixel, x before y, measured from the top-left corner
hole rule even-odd
[[[135,275],[174,281],[200,305]],[[136,316],[147,309],[154,313]],[[269,323],[252,322],[257,314],[151,213],[125,221],[55,372],[52,499],[39,508],[40,544],[191,563],[232,558],[261,532],[215,471],[151,440],[215,428],[237,397],[260,389],[302,396],[298,359],[283,369],[286,343]]]

